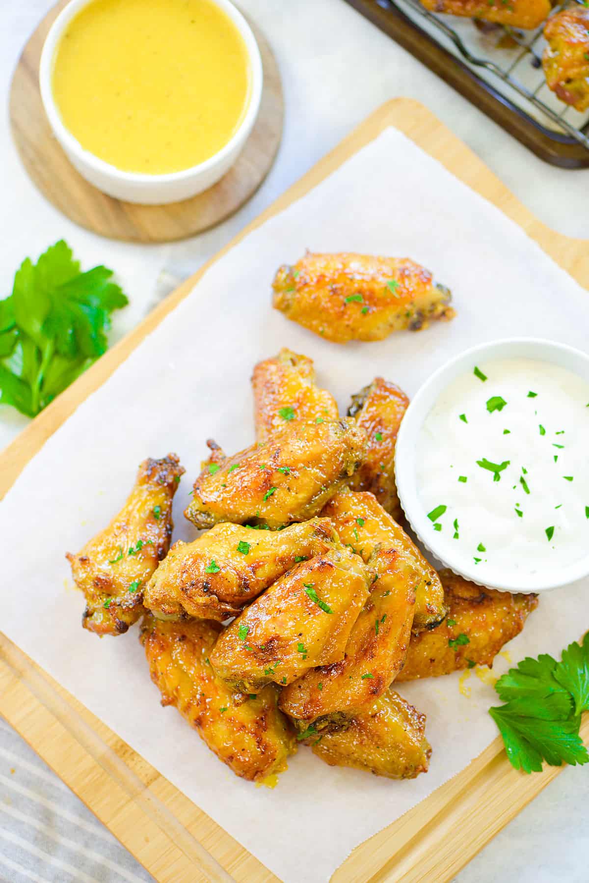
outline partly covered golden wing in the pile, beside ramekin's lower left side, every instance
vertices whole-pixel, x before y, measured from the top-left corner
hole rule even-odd
[[[393,548],[410,555],[419,572],[413,631],[429,629],[435,623],[442,622],[446,606],[440,577],[403,528],[382,509],[373,494],[351,493],[346,489],[328,502],[322,515],[332,519],[340,540],[358,551],[366,562],[379,543],[385,549]]]

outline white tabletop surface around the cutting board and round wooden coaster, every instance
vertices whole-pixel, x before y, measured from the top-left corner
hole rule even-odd
[[[51,0],[4,4],[0,30],[4,107],[20,49],[51,5]],[[253,200],[215,230],[182,243],[140,246],[105,241],[59,215],[35,190],[11,143],[4,112],[0,125],[2,296],[10,292],[17,261],[27,254],[36,257],[58,238],[66,238],[83,265],[104,262],[117,269],[131,298],[131,306],[114,323],[114,338],[122,336],[153,305],[162,268],[178,277],[199,268],[370,111],[399,95],[416,98],[434,110],[544,223],[570,236],[589,238],[589,170],[559,170],[536,159],[342,0],[240,0],[240,5],[276,51],[286,110],[276,164]],[[0,406],[0,448],[25,425],[25,419]],[[7,731],[0,728],[0,750],[5,745],[3,735]],[[580,823],[586,820],[588,798],[589,768],[565,770],[464,868],[458,883],[495,883],[498,879],[503,883],[584,883],[589,829]],[[0,804],[9,799],[0,781]],[[0,841],[0,858],[6,842]],[[30,865],[26,878],[16,871],[3,877],[8,865],[0,863],[0,879],[11,883],[74,879],[62,871],[55,876],[55,867],[48,870],[41,862],[37,858],[37,864]],[[33,872],[40,876],[31,876]],[[116,871],[111,877],[103,872],[102,865],[101,880],[119,879]],[[142,872],[137,873],[144,879]]]

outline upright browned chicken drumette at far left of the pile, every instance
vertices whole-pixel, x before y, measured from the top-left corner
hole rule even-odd
[[[144,460],[125,506],[78,553],[67,553],[72,576],[86,596],[82,625],[122,635],[143,613],[143,590],[168,552],[172,498],[184,469],[176,454]]]

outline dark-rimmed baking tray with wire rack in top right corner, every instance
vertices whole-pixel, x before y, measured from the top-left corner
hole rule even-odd
[[[578,113],[548,89],[541,66],[543,24],[522,31],[475,23],[427,11],[419,0],[347,2],[543,159],[565,168],[589,166],[589,111]],[[580,2],[564,0],[551,15]],[[411,27],[424,42],[410,33]]]

